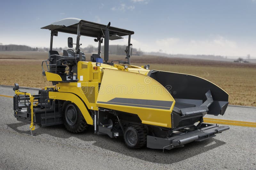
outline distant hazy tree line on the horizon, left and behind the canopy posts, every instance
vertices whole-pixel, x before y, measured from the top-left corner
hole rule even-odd
[[[109,45],[109,54],[116,54],[116,55],[125,55],[126,46],[120,45]],[[60,47],[60,48],[53,48],[52,50],[62,52],[63,49],[68,49],[68,47]],[[104,53],[104,46],[101,46],[101,53]],[[94,47],[92,45],[88,45],[87,47],[80,47],[80,50],[84,53],[98,53],[98,47]],[[131,49],[130,49],[131,50]],[[48,52],[49,48],[38,48],[38,47],[30,47],[24,45],[2,45],[0,44],[0,51],[40,51],[40,52]],[[136,48],[132,48],[132,55],[142,55],[142,51],[137,50]]]

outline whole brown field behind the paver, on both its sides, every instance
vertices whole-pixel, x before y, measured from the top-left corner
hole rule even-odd
[[[89,60],[90,54],[86,54],[86,56]],[[16,59],[3,59],[9,57]],[[36,54],[33,52],[10,52],[8,55],[1,52],[0,76],[2,78],[0,84],[13,85],[17,82],[20,86],[26,87],[51,86],[51,82],[42,76],[41,63],[46,58],[48,58],[48,54],[45,52]],[[109,56],[109,60],[114,59],[124,60],[124,56]],[[150,69],[192,74],[212,81],[228,92],[230,104],[256,106],[256,64],[157,56],[132,57],[132,65],[142,66],[148,63]]]

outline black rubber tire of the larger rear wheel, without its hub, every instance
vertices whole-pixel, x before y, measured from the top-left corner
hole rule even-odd
[[[76,123],[74,125],[68,124],[67,120],[66,120],[65,112],[66,112],[66,107],[68,106],[68,104],[73,104],[76,108],[77,119],[76,119]],[[71,102],[67,101],[63,104],[62,108],[63,108],[62,113],[63,113],[64,125],[68,131],[70,131],[72,133],[81,133],[87,129],[88,124],[86,123],[82,112],[76,106],[75,103],[71,103]]]

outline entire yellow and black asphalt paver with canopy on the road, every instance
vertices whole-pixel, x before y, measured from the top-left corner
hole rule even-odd
[[[228,126],[205,124],[204,115],[223,115],[228,93],[203,78],[130,64],[133,31],[66,18],[43,27],[51,31],[48,60],[42,62],[42,74],[52,87],[31,95],[15,84],[14,116],[30,124],[64,124],[73,133],[89,125],[95,134],[123,137],[129,148],[147,146],[154,149],[182,147],[203,141],[229,129]],[[68,47],[60,55],[52,50],[58,32],[76,34],[68,38]],[[95,38],[98,53],[85,61],[80,51],[80,37]],[[126,60],[108,61],[109,40],[128,36],[124,49]],[[104,38],[104,59],[100,46]],[[115,62],[115,63],[114,63]]]

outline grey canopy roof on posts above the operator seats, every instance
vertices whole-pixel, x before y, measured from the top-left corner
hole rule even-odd
[[[103,32],[107,25],[98,24],[90,21],[85,21],[78,18],[65,18],[60,21],[54,22],[50,25],[42,27],[42,29],[54,30],[58,32],[65,32],[70,34],[77,34],[77,24],[81,24],[80,35],[89,37],[103,37]],[[109,27],[109,35],[125,36],[129,34],[134,34],[133,31]],[[102,32],[103,31],[103,32]]]

